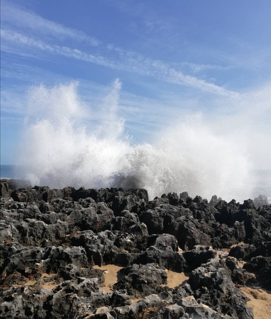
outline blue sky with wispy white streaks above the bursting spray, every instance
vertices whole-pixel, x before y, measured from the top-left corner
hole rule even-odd
[[[1,1],[1,164],[16,163],[27,91],[39,83],[78,80],[95,109],[120,78],[119,113],[136,143],[187,112],[232,112],[270,83],[270,21],[268,0]]]

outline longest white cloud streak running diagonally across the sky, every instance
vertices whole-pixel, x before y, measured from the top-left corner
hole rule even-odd
[[[112,69],[125,70],[150,76],[168,83],[191,86],[205,92],[231,96],[233,98],[237,98],[239,96],[239,93],[237,92],[227,90],[203,79],[185,75],[183,72],[170,67],[170,65],[163,63],[162,61],[145,58],[144,56],[120,48],[108,47],[108,49],[111,50],[114,48],[115,52],[117,52],[121,57],[119,60],[113,60],[102,55],[87,53],[77,48],[48,44],[44,41],[8,29],[1,29],[1,37],[6,41],[13,42],[15,44],[21,44],[53,54],[89,63],[95,63]]]

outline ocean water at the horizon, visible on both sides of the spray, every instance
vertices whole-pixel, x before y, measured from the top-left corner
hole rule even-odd
[[[0,176],[1,178],[17,178],[17,179],[25,179],[25,169],[22,166],[16,165],[0,165]],[[251,180],[254,181],[254,185],[252,185],[252,190],[247,198],[254,199],[259,195],[264,195],[268,197],[268,202],[271,204],[271,169],[255,169],[250,172]],[[45,186],[45,185],[43,185]],[[46,185],[47,186],[47,185]],[[69,185],[67,185],[69,186]],[[91,188],[92,185],[89,185]],[[162,194],[161,194],[162,195]],[[200,195],[200,194],[198,194]],[[216,194],[223,199],[223,195]],[[232,198],[237,201],[243,202],[244,199],[242,194],[238,193],[231,194]]]

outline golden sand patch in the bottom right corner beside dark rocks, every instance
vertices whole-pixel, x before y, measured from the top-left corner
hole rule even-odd
[[[255,319],[271,319],[271,291],[241,287],[240,290],[250,301],[247,305],[253,308]]]

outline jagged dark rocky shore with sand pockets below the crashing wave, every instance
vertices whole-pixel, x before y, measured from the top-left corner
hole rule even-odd
[[[260,318],[261,291],[271,317],[264,197],[16,187],[1,180],[0,318]]]

